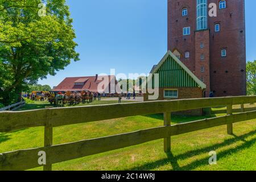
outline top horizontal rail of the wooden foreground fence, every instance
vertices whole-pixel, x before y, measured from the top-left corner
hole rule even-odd
[[[256,96],[243,96],[61,107],[16,112],[4,111],[0,114],[0,132],[9,132],[27,127],[46,126],[46,122],[52,127],[57,127],[133,115],[157,114],[215,106],[250,104],[254,102],[256,102]],[[46,118],[49,118],[49,121],[46,121]]]

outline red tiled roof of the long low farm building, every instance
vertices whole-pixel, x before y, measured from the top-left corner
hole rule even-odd
[[[52,91],[67,92],[87,90],[90,92],[115,93],[117,80],[115,76],[85,76],[85,77],[67,77]]]

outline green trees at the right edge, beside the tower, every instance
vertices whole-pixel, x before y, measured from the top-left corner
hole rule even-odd
[[[247,62],[247,94],[256,95],[256,60],[253,62]]]

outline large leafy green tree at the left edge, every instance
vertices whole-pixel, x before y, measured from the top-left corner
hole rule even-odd
[[[65,0],[0,0],[0,102],[79,60],[75,38]]]

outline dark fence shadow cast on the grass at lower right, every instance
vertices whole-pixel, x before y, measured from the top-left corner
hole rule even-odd
[[[233,144],[235,142],[238,142],[238,141],[243,142],[243,144],[241,144],[240,146],[237,146],[235,148],[230,148],[230,149],[224,150],[222,152],[218,152],[217,157],[218,157],[218,159],[221,159],[221,158],[224,158],[227,155],[230,155],[232,153],[236,153],[239,150],[244,150],[245,148],[251,147],[256,142],[256,138],[250,139],[248,141],[246,141],[245,139],[247,137],[250,137],[250,136],[255,135],[255,134],[256,134],[256,130],[251,131],[250,133],[241,135],[239,137],[237,137],[236,135],[233,135],[234,138],[227,139],[227,140],[225,140],[224,142],[222,142],[220,144],[214,144],[212,146],[200,148],[198,150],[188,151],[188,152],[185,152],[184,154],[179,154],[179,155],[176,155],[176,156],[174,156],[172,154],[172,152],[169,152],[169,153],[167,153],[167,158],[166,159],[156,160],[155,162],[151,162],[151,163],[144,164],[142,166],[127,169],[127,171],[129,171],[129,170],[130,171],[137,171],[137,170],[149,171],[149,170],[155,169],[159,166],[164,166],[164,165],[167,165],[167,164],[170,164],[174,171],[183,171],[183,170],[184,171],[189,171],[189,170],[195,169],[199,166],[207,166],[207,165],[209,165],[208,164],[209,157],[203,158],[203,159],[200,159],[200,160],[196,160],[195,162],[187,164],[186,166],[183,166],[183,167],[179,166],[179,164],[177,163],[177,160],[184,160],[184,159],[192,158],[193,156],[200,155],[200,154],[203,154],[203,153],[208,154],[208,152],[210,152],[210,151],[217,150],[218,148],[221,148],[221,147],[224,147],[224,146],[229,146],[230,144]]]

